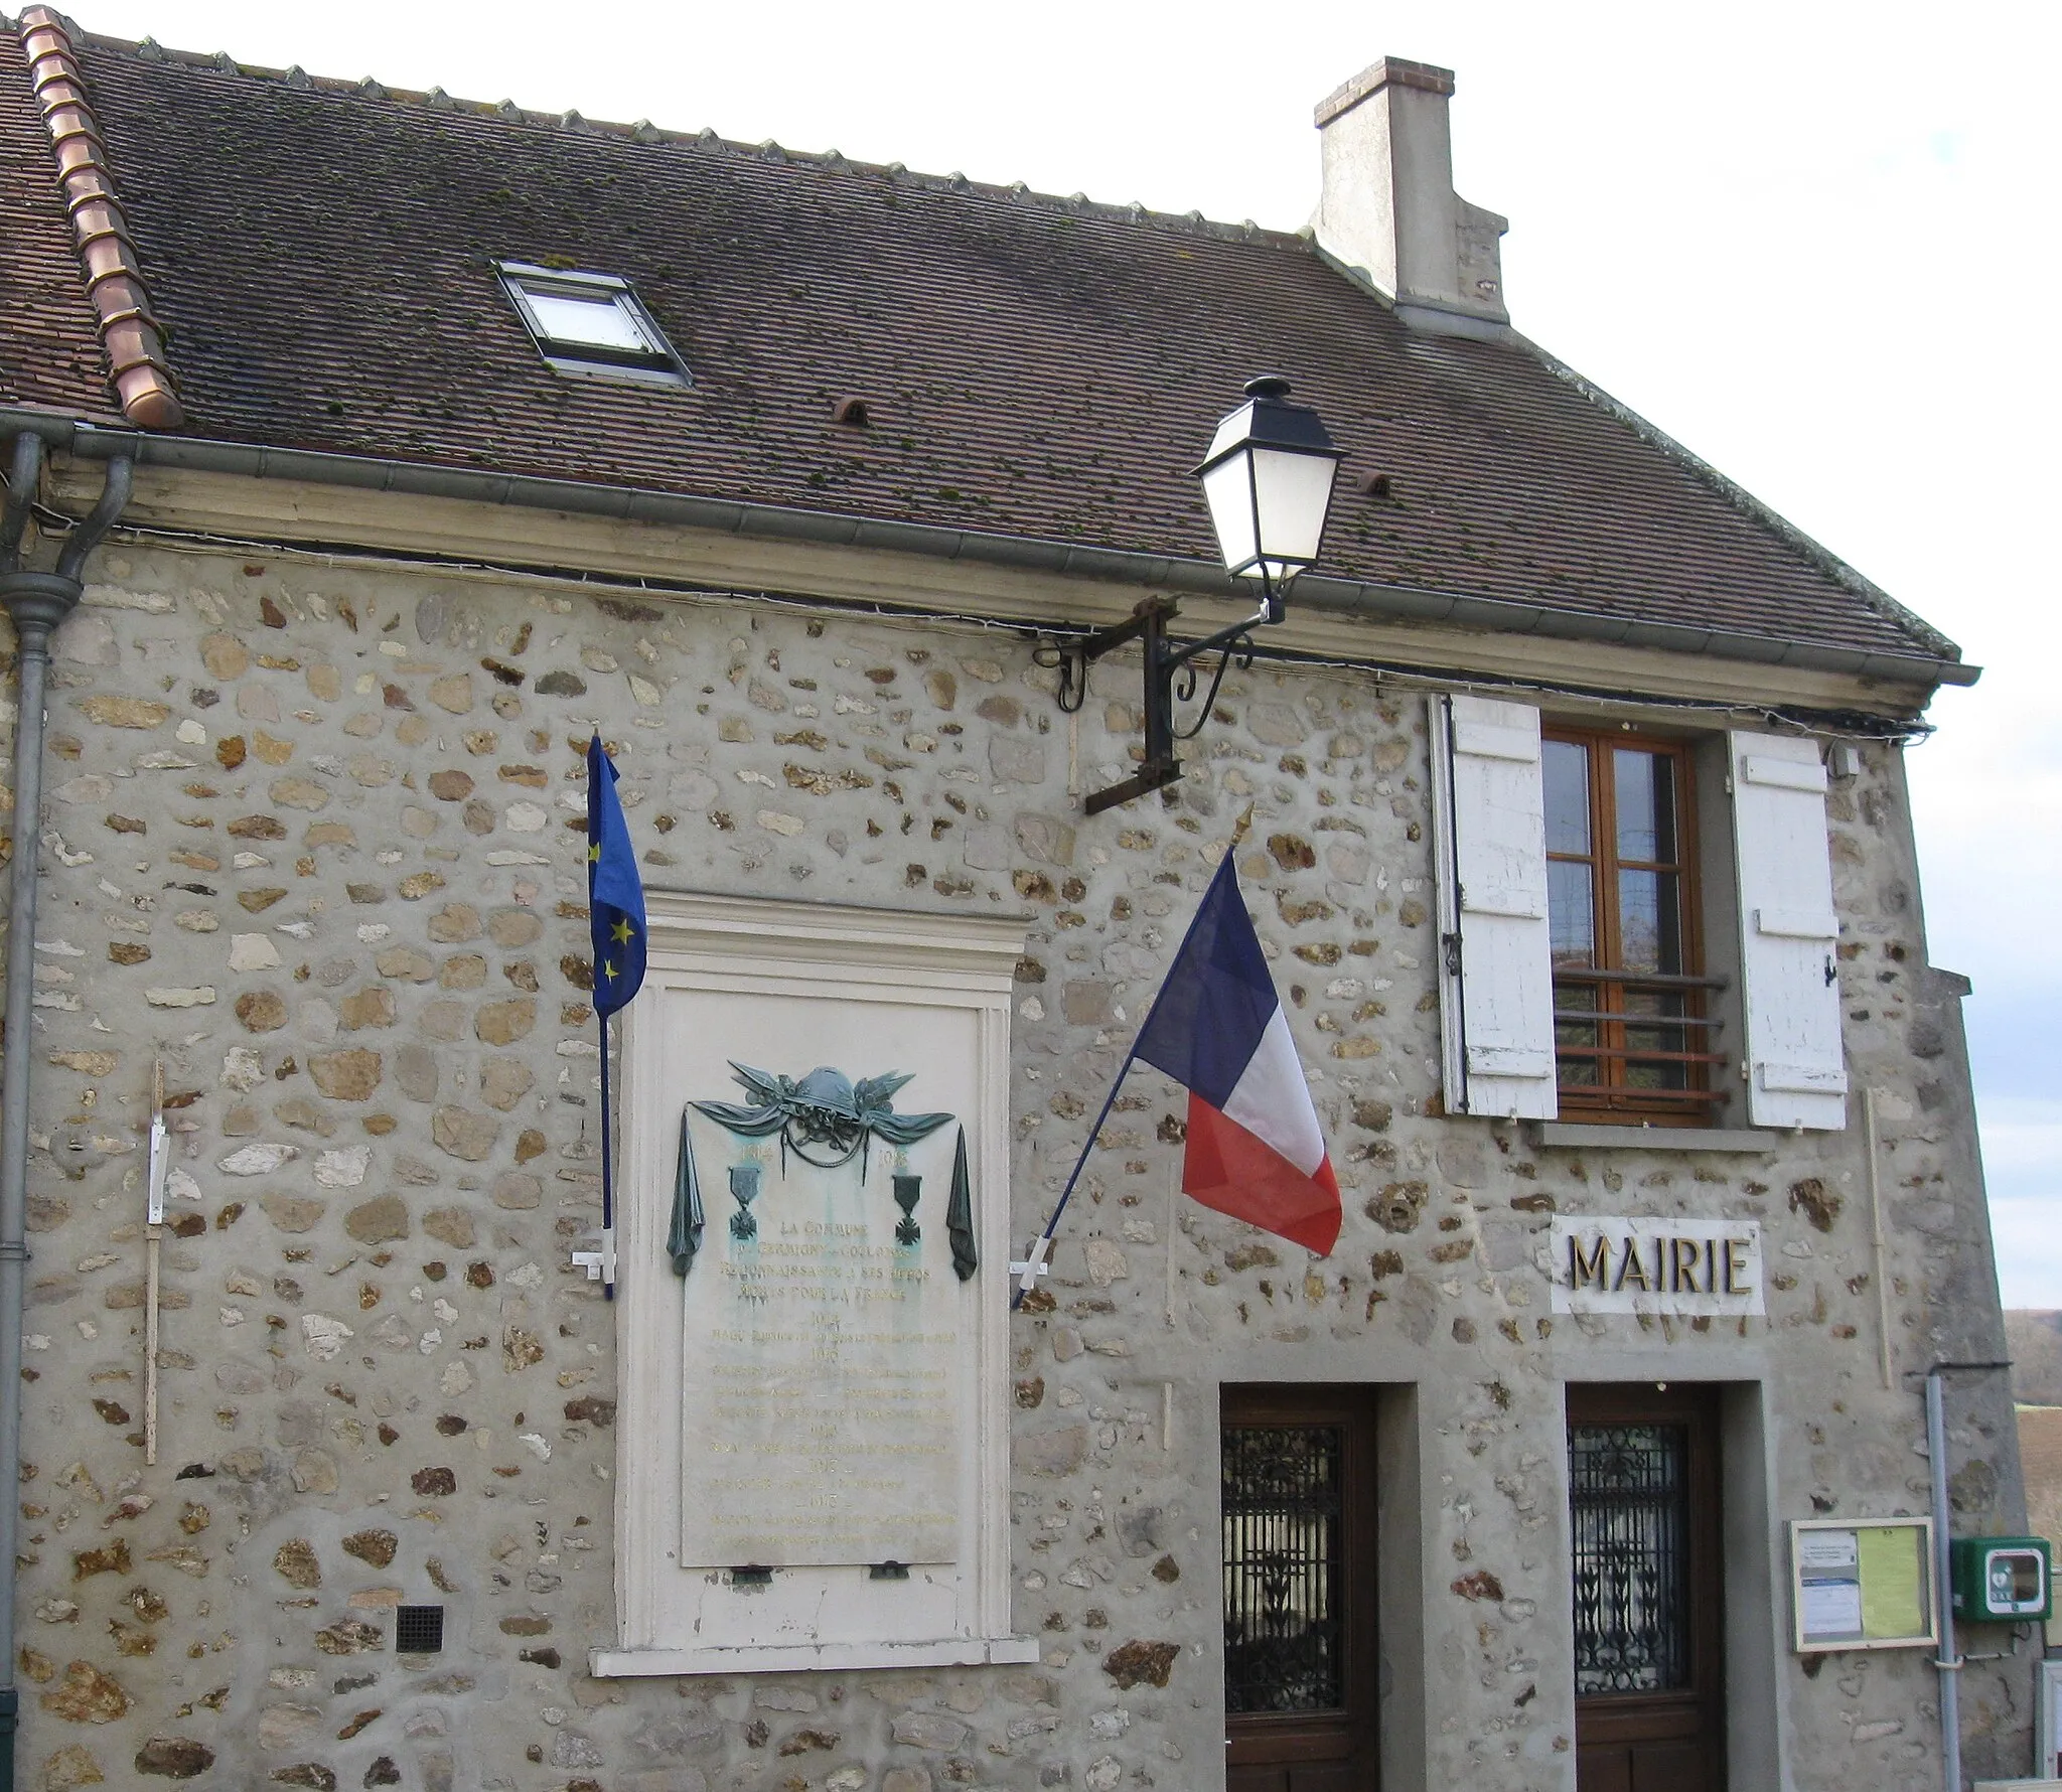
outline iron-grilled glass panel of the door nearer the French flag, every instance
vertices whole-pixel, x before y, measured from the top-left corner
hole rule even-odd
[[[1346,1703],[1338,1425],[1223,1433],[1225,1710],[1338,1712]]]

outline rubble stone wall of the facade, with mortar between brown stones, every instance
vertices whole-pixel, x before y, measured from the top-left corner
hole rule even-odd
[[[1390,1662],[1396,1759],[1561,1792],[1563,1380],[1765,1384],[1777,1518],[1924,1509],[1916,1384],[1876,1369],[1858,1126],[1742,1159],[1435,1118],[1419,693],[1233,674],[1184,784],[1089,821],[1136,674],[1097,668],[1070,722],[1004,631],[136,546],[95,573],[49,705],[29,1043],[29,1784],[1212,1786],[1217,1386],[1342,1380],[1417,1388],[1423,1571],[1386,1621],[1417,1615],[1433,1693]],[[647,883],[1035,916],[1017,1246],[1252,804],[1239,868],[1346,1229],[1311,1262],[1177,1200],[1179,1095],[1132,1083],[1012,1330],[1035,1670],[584,1670],[614,1639],[619,1443],[610,1309],[569,1268],[598,1223],[590,726]],[[1996,1355],[1996,1291],[1895,751],[1864,767],[1833,796],[1839,953],[1907,1371]],[[153,1054],[177,1167],[146,1468]],[[1759,1221],[1767,1320],[1551,1318],[1557,1208]],[[1955,1411],[1963,1518],[2010,1528],[2002,1388]],[[402,1602],[445,1606],[439,1656],[396,1658]],[[1796,1784],[1936,1784],[1920,1654],[1775,1674]],[[1965,1674],[1971,1765],[2023,1771],[2029,1674]]]

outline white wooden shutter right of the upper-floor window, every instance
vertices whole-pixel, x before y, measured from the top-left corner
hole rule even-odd
[[[1837,1132],[1848,1124],[1848,1070],[1819,742],[1732,734],[1730,751],[1747,1118]]]

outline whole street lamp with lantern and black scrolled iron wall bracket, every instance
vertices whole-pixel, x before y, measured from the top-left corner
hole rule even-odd
[[[1245,381],[1245,404],[1217,425],[1210,452],[1196,474],[1210,507],[1225,571],[1252,579],[1260,590],[1260,608],[1229,629],[1219,629],[1202,641],[1169,641],[1167,623],[1177,615],[1173,598],[1146,598],[1128,623],[1095,629],[1060,648],[1060,707],[1080,709],[1089,689],[1089,662],[1099,660],[1126,641],[1138,641],[1144,652],[1144,763],[1132,777],[1097,790],[1087,800],[1089,815],[1099,815],[1149,790],[1173,784],[1182,761],[1173,755],[1175,740],[1194,740],[1210,720],[1217,689],[1233,658],[1241,666],[1254,660],[1252,631],[1278,623],[1289,606],[1289,586],[1297,573],[1318,559],[1324,540],[1324,518],[1332,505],[1332,476],[1344,454],[1326,433],[1324,421],[1307,404],[1289,402],[1289,381],[1266,377]],[[1217,654],[1210,691],[1202,711],[1188,728],[1175,728],[1175,701],[1196,695],[1196,660]],[[1175,689],[1179,676],[1179,691]]]

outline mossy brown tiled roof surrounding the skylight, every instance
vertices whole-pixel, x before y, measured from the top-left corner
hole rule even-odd
[[[186,435],[1215,559],[1190,468],[1276,371],[1349,452],[1326,571],[1955,656],[1528,344],[1415,332],[1297,235],[78,49]],[[23,82],[0,35],[0,402],[111,414]],[[693,386],[553,373],[497,260],[631,278]]]

